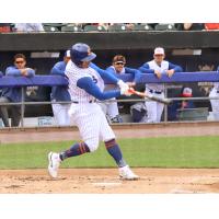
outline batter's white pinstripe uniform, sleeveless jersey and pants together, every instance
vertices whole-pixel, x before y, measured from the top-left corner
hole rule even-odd
[[[104,90],[104,81],[101,76],[92,68],[79,68],[72,61],[69,61],[66,71],[69,79],[69,93],[72,103],[69,110],[71,123],[79,128],[82,140],[88,145],[90,151],[94,151],[99,147],[99,141],[107,141],[115,138],[115,135],[108,125],[101,106],[94,102],[94,96],[87,93],[83,89],[77,87],[79,79],[90,77],[96,85]]]

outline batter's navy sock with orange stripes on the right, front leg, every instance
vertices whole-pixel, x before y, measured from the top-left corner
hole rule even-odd
[[[120,148],[116,143],[115,139],[106,141],[105,142],[105,147],[106,147],[106,150],[108,151],[108,153],[114,158],[114,160],[116,161],[116,164],[119,168],[123,168],[123,166],[127,165],[126,161],[123,159],[123,154],[122,154]]]

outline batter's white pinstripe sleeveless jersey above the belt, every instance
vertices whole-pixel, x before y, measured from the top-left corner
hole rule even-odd
[[[92,78],[94,83],[100,88],[101,91],[104,90],[104,81],[99,74],[97,71],[95,71],[92,68],[79,68],[77,67],[71,60],[66,66],[65,74],[68,77],[69,80],[69,93],[71,96],[71,101],[77,101],[80,103],[88,103],[89,101],[93,101],[94,96],[87,93],[83,89],[80,89],[77,87],[77,82],[79,79],[89,77]]]

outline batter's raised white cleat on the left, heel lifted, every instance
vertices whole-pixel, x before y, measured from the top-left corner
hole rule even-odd
[[[59,153],[49,152],[48,153],[48,173],[51,177],[56,178],[58,175],[58,168],[60,165]]]

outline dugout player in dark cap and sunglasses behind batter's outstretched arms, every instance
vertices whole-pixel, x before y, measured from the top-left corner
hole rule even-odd
[[[116,55],[113,58],[113,64],[112,66],[110,66],[106,71],[110,73],[113,73],[115,77],[117,77],[118,74],[124,74],[124,73],[130,73],[134,76],[134,81],[132,82],[128,82],[129,87],[135,87],[137,81],[140,80],[140,71],[137,69],[132,69],[132,68],[127,68],[125,67],[126,65],[126,58],[122,55]],[[105,90],[112,89],[112,88],[116,88],[116,85],[114,84],[106,84],[105,85]],[[113,99],[115,100],[115,99]],[[108,115],[112,123],[122,123],[122,118],[119,116],[119,112],[118,112],[118,104],[117,102],[108,102],[108,103],[104,103],[106,106],[106,114]]]

